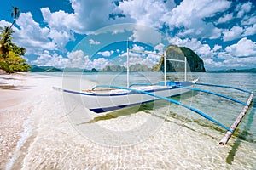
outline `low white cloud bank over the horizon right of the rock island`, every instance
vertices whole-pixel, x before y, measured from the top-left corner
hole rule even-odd
[[[202,44],[195,38],[173,37],[170,42],[194,50],[203,59],[205,67],[208,69],[256,66],[256,62],[251,63],[256,60],[256,44],[247,38],[242,38],[237,44],[225,48],[224,51],[218,44],[211,49],[208,44]],[[238,59],[237,57],[249,58]]]

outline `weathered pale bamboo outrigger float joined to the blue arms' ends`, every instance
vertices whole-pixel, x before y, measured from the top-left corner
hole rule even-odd
[[[251,93],[249,99],[247,100],[247,105],[244,106],[244,108],[243,108],[243,110],[241,111],[241,113],[239,114],[239,116],[236,117],[236,121],[231,125],[230,130],[232,130],[233,132],[228,131],[228,132],[225,134],[224,138],[220,140],[220,142],[219,142],[220,145],[224,145],[224,144],[227,144],[227,143],[228,143],[228,141],[229,141],[231,135],[235,132],[236,127],[237,127],[237,126],[239,125],[239,123],[241,122],[242,117],[245,116],[245,114],[247,113],[247,110],[248,110],[248,108],[249,108],[249,105],[251,105],[252,101],[253,101],[253,92]]]

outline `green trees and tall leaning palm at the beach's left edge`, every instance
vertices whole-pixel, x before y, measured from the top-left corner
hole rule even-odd
[[[14,73],[20,71],[29,71],[30,65],[26,63],[26,59],[22,56],[26,54],[26,48],[17,46],[12,42],[12,30],[16,19],[19,17],[19,8],[13,7],[12,17],[14,20],[11,26],[0,27],[0,69],[7,73]]]

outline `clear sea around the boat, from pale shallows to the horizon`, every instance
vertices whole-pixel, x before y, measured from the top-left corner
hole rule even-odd
[[[67,80],[75,84],[73,77],[79,77],[79,90],[99,84],[126,87],[128,82],[125,72],[45,75],[61,77],[63,88]],[[128,79],[129,84],[154,84],[164,81],[164,75],[162,72],[131,72]],[[192,72],[186,77],[183,73],[167,74],[169,81],[185,79],[256,92],[255,73]],[[195,88],[242,102],[247,102],[250,95],[233,88],[201,85],[195,85]],[[65,103],[65,94],[61,98],[61,93],[51,90],[49,95],[53,96],[49,98],[44,94],[38,98],[38,112],[32,114],[36,126],[26,140],[30,146],[23,161],[25,169],[256,169],[255,96],[228,144],[220,146],[218,142],[226,129],[167,101],[158,100],[98,115],[78,110],[75,100]],[[235,122],[244,108],[240,103],[198,91],[172,99],[205,113],[226,127]],[[66,108],[62,108],[63,105]]]

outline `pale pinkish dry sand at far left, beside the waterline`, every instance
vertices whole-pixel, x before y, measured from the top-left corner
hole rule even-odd
[[[0,75],[0,169],[5,169],[26,139],[26,123],[38,94],[50,90],[47,76],[31,73]],[[50,82],[50,81],[49,81]],[[52,81],[51,81],[52,82]]]

